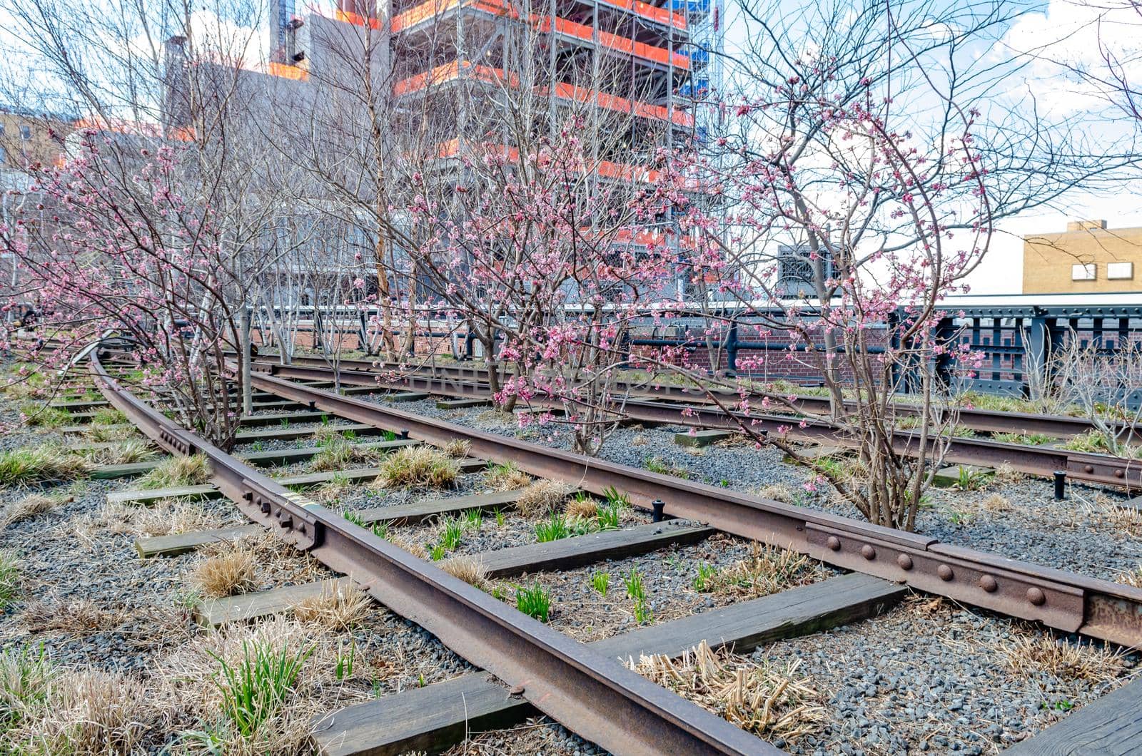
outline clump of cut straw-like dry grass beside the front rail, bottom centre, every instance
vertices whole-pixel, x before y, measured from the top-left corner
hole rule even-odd
[[[814,732],[825,721],[825,697],[801,670],[801,660],[754,661],[711,651],[702,641],[678,660],[642,657],[629,666],[739,727],[787,741]]]

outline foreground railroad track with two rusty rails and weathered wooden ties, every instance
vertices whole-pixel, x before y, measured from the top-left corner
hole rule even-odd
[[[852,570],[717,612],[693,614],[584,646],[283,485],[304,482],[275,481],[178,428],[123,391],[97,356],[91,369],[104,396],[155,443],[172,453],[196,452],[209,458],[212,485],[206,488],[233,500],[258,526],[312,555],[335,573],[348,576],[369,596],[506,683],[490,682],[478,674],[464,675],[437,684],[442,687],[429,685],[424,693],[411,691],[332,713],[322,719],[314,735],[329,753],[400,753],[427,742],[435,748],[457,738],[458,726],[463,735],[464,724],[474,711],[486,716],[488,722],[506,722],[525,716],[531,707],[614,753],[775,753],[762,740],[625,669],[616,657],[638,658],[643,652],[677,656],[710,637],[748,651],[780,637],[872,617],[899,601],[906,585],[1064,632],[1125,646],[1142,645],[1142,590],[582,458],[267,375],[256,376],[259,391],[308,408],[309,415],[328,413],[352,421],[355,428],[396,431],[404,437],[395,441],[407,443],[444,445],[460,439],[468,442],[468,453],[481,465],[512,461],[540,478],[562,481],[582,491],[624,491],[636,507],[654,513],[654,521],[664,516],[695,523],[671,530],[668,523],[651,522],[618,531],[620,534],[571,538],[526,553],[501,549],[499,561],[491,560],[500,574],[621,558],[640,549],[701,540],[718,531]],[[289,429],[281,432],[286,435]],[[473,506],[491,504],[467,500],[449,505],[445,499],[432,505],[427,514],[426,506],[419,505],[373,512],[363,522],[369,525],[440,516],[460,512],[461,507],[471,510]],[[214,542],[240,534],[192,533],[179,539],[179,547],[185,548],[187,539],[194,541],[195,536],[201,542]],[[496,555],[493,552],[490,556]],[[1104,746],[1100,753],[1131,753],[1131,741],[1123,740],[1123,735],[1142,737],[1140,699],[1139,684],[1128,684],[1107,697],[1105,706],[1089,705],[1023,746],[1048,748],[1065,743],[1078,729],[1085,733],[1086,745]],[[440,710],[426,716],[425,706]],[[1133,714],[1124,716],[1131,707]],[[1105,732],[1089,740],[1089,733],[1101,732],[1100,727]],[[378,745],[380,740],[384,743]],[[1026,753],[1044,751],[1032,748]]]

